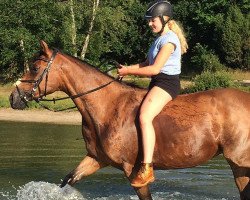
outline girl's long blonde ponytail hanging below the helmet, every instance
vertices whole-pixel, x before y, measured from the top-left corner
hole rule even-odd
[[[187,52],[188,44],[186,37],[184,35],[184,32],[181,28],[181,26],[175,21],[175,20],[169,20],[168,21],[168,27],[171,31],[173,31],[179,38],[181,43],[181,54],[184,54]]]

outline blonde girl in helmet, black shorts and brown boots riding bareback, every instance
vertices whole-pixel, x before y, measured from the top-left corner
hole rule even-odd
[[[150,3],[145,18],[152,32],[157,34],[147,59],[131,66],[119,65],[118,69],[119,76],[151,77],[149,91],[140,108],[143,160],[139,172],[131,182],[134,187],[142,187],[155,180],[152,163],[155,130],[152,122],[162,108],[179,94],[181,55],[188,48],[182,29],[172,19],[172,5],[168,1]]]

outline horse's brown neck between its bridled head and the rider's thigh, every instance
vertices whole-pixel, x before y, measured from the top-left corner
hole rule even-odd
[[[72,70],[74,70],[73,73]],[[114,109],[118,109],[119,104],[126,101],[126,98],[133,96],[133,99],[137,98],[140,100],[144,94],[141,90],[133,89],[114,81],[111,77],[87,66],[87,64],[77,64],[74,66],[74,69],[66,68],[64,74],[67,76],[64,80],[66,83],[64,87],[68,95],[89,91],[111,82],[100,90],[74,100],[86,121],[105,123],[107,116],[113,115]],[[134,103],[138,104],[138,101]],[[132,104],[133,102],[130,102],[130,106]]]

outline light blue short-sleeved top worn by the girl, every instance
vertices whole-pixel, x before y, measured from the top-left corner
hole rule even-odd
[[[175,50],[171,53],[160,72],[168,75],[177,75],[181,73],[181,44],[178,36],[173,31],[168,31],[165,35],[155,39],[149,49],[148,60],[150,65],[154,64],[160,49],[169,42],[175,45]]]

